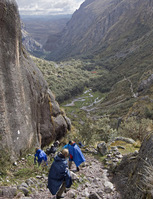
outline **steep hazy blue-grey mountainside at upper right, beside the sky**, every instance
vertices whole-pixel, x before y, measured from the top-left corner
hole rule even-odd
[[[113,40],[118,40],[120,35],[130,37],[132,28],[144,31],[147,25],[152,26],[151,7],[151,1],[85,1],[72,15],[56,43],[52,43],[48,59],[60,60],[100,54],[107,50]],[[141,27],[144,18],[148,16],[149,24]],[[49,46],[50,39],[47,43]]]

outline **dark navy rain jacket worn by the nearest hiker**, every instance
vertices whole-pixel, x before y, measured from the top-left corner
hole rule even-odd
[[[48,175],[48,188],[53,195],[57,193],[63,181],[66,183],[66,188],[71,187],[72,179],[68,170],[67,160],[62,154],[58,154],[54,158]]]

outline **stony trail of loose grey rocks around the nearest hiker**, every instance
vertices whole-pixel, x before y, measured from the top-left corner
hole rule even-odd
[[[86,164],[80,167],[76,173],[76,168],[72,164],[71,176],[73,185],[66,193],[63,193],[65,199],[121,199],[115,185],[111,183],[111,178],[107,169],[94,156],[86,154]],[[29,178],[18,186],[0,187],[0,197],[22,198],[22,199],[53,199],[50,191],[47,189],[47,175],[38,174],[37,178]],[[7,191],[6,191],[7,190]],[[15,193],[18,194],[16,196]]]

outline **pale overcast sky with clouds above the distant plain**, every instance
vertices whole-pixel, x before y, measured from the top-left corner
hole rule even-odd
[[[20,14],[72,14],[85,0],[16,0]]]

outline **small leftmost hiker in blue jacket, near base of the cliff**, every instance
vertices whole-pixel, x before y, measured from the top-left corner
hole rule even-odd
[[[35,154],[35,157],[34,157],[34,163],[35,164],[36,164],[36,161],[38,162],[39,166],[40,166],[41,163],[48,165],[46,153],[39,148],[36,148],[36,154]]]

